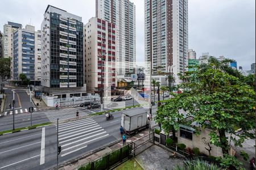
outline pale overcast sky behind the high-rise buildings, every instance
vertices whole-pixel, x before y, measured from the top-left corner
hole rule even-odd
[[[4,0],[2,0],[4,1]],[[144,61],[144,0],[131,0],[136,6],[137,61]],[[237,60],[238,66],[249,70],[255,62],[255,0],[188,0],[189,49],[212,56]],[[2,2],[0,30],[16,22],[32,24],[40,29],[47,5],[56,6],[82,16],[86,24],[95,16],[95,0],[8,0]]]

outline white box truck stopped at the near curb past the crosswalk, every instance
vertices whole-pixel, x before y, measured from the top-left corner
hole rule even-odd
[[[127,134],[138,133],[139,130],[148,128],[147,112],[142,108],[135,108],[122,113],[121,126]]]

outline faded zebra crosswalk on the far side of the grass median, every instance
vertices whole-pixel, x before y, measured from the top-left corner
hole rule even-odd
[[[67,120],[69,118],[75,118],[76,117],[76,111],[77,109],[75,108],[67,108],[67,109],[59,109],[59,110],[49,110],[45,114],[49,121],[55,122],[57,118],[59,120]],[[79,116],[86,116],[88,115],[87,113],[79,111]]]

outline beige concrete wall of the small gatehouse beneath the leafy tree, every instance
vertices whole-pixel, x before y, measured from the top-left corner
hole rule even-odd
[[[198,147],[200,152],[206,155],[209,155],[209,152],[205,149],[205,147],[209,148],[207,145],[204,144],[202,138],[206,138],[209,141],[209,129],[201,129],[201,133],[199,136],[196,134],[193,134],[192,141],[183,137],[180,137],[180,130],[177,132],[177,141],[178,143],[184,143],[187,147],[190,147],[191,149],[193,147]],[[210,154],[212,156],[222,156],[222,150],[220,147],[217,147],[215,145],[212,146],[212,151],[210,151]]]

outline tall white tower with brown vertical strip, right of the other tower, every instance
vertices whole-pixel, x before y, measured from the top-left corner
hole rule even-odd
[[[187,71],[188,1],[144,0],[145,61],[151,62],[152,74],[161,71]]]

